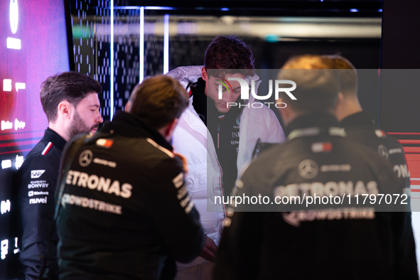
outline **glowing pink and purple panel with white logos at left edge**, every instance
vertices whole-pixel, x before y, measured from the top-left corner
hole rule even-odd
[[[18,257],[9,232],[11,179],[48,126],[41,83],[70,70],[64,1],[0,1],[0,279],[14,279],[7,264]]]

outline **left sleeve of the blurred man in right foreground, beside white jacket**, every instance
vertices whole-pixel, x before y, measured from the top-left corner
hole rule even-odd
[[[241,188],[237,188],[238,197],[244,195],[262,194],[261,187],[266,185],[261,178],[265,178],[257,171],[256,161],[250,164],[240,179]],[[266,168],[264,168],[266,170]],[[259,173],[259,176],[255,176]],[[266,221],[270,219],[270,212],[257,212],[262,209],[249,208],[249,205],[230,205],[235,213],[225,219],[225,228],[222,232],[220,247],[217,252],[217,261],[213,279],[259,279],[260,262],[262,262],[262,242],[266,233]]]

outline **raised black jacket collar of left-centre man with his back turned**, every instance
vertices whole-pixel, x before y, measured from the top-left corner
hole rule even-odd
[[[171,144],[158,131],[145,124],[139,117],[126,112],[117,112],[112,122],[106,122],[101,131],[105,133],[114,131],[115,134],[127,137],[150,138],[163,148],[173,151]]]

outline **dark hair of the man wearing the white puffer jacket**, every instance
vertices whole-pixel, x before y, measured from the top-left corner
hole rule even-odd
[[[249,69],[246,72],[247,76],[255,74],[252,50],[237,36],[216,36],[205,50],[204,67],[206,69]]]

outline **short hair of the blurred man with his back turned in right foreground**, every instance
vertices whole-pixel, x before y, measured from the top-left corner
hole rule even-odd
[[[287,60],[278,75],[279,80],[296,82],[291,92],[297,100],[287,102],[296,112],[331,112],[338,99],[339,78],[335,65],[320,55],[299,55]],[[279,97],[286,99],[286,93]]]

